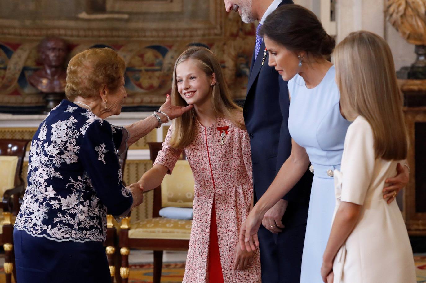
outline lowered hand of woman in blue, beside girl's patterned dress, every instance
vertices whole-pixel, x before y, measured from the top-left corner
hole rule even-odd
[[[257,213],[255,209],[248,214],[247,219],[240,229],[239,245],[242,250],[246,249],[247,252],[253,252],[259,246],[257,232],[259,231],[262,219],[263,214]]]

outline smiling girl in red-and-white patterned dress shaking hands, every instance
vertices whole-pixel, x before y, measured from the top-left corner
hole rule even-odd
[[[253,203],[250,141],[242,109],[216,56],[191,47],[176,60],[172,100],[194,108],[173,121],[144,191],[161,184],[185,150],[195,180],[193,225],[183,282],[260,282],[259,250],[242,251],[238,233]]]

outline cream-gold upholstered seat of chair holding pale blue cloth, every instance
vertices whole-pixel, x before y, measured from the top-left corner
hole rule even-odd
[[[155,217],[132,223],[129,238],[189,240],[192,220]]]

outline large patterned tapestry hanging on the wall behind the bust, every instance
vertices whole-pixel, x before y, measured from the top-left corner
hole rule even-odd
[[[117,50],[127,67],[124,111],[161,105],[176,58],[191,45],[216,54],[234,98],[241,100],[254,33],[253,24],[226,13],[222,0],[0,1],[0,110],[44,104],[27,79],[42,66],[37,45],[48,36],[66,40],[66,62],[92,47]]]

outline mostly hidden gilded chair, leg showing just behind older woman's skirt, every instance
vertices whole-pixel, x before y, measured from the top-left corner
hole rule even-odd
[[[121,172],[124,173],[124,166],[126,165],[127,151],[120,155],[120,166]],[[126,184],[124,183],[124,186]],[[108,213],[108,212],[107,212]],[[111,283],[121,282],[120,278],[120,253],[118,252],[118,235],[117,229],[119,228],[118,223],[115,221],[111,214],[107,214],[107,237],[104,242],[105,252],[107,253],[109,272],[111,275]],[[118,268],[117,268],[118,267]]]

